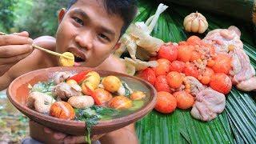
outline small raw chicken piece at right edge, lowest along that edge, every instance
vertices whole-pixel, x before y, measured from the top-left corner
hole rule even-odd
[[[238,83],[237,88],[243,91],[256,90],[256,77],[252,77],[246,81]]]

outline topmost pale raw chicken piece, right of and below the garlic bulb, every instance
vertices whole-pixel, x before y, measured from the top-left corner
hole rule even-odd
[[[239,49],[243,48],[240,36],[240,30],[236,26],[230,26],[228,29],[215,29],[210,31],[203,41],[213,44],[216,53],[227,53],[229,46],[237,46]]]

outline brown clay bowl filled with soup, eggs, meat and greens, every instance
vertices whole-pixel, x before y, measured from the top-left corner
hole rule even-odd
[[[91,134],[118,130],[149,114],[156,103],[156,90],[141,78],[86,67],[23,74],[11,82],[7,95],[34,122],[73,135],[84,135],[86,124]]]

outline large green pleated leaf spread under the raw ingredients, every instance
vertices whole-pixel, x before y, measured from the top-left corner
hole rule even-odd
[[[141,13],[136,21],[146,21],[154,14],[156,2],[140,1]],[[183,19],[194,10],[169,5],[169,10],[160,15],[152,35],[165,42],[180,42],[191,34],[182,26]],[[142,7],[142,8],[141,8]],[[256,50],[253,35],[246,25],[229,18],[202,11],[209,22],[209,30],[238,26],[242,31],[244,50],[256,67]],[[208,31],[209,31],[208,30]],[[204,37],[204,35],[198,35]],[[233,88],[226,95],[226,108],[210,122],[201,122],[191,117],[190,110],[175,110],[172,114],[160,114],[153,110],[136,123],[140,143],[256,143],[256,93],[245,93]]]

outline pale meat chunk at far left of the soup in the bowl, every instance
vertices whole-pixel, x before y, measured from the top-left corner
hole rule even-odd
[[[50,95],[36,91],[30,93],[28,96],[28,106],[43,114],[49,114],[50,106],[54,102],[55,99],[50,97]]]

